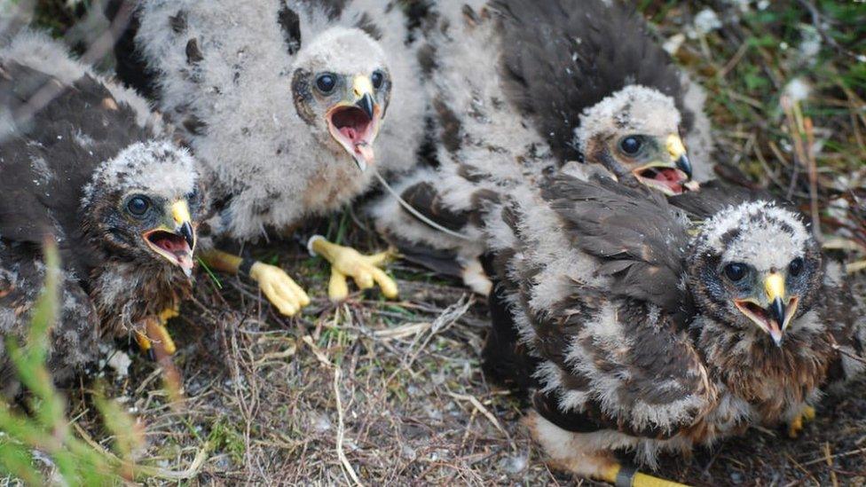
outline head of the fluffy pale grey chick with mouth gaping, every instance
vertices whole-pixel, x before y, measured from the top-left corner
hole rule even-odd
[[[298,51],[292,93],[314,135],[362,171],[388,108],[391,78],[382,47],[359,28],[333,27]]]

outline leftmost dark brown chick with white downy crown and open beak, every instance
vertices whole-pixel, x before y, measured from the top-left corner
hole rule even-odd
[[[134,332],[171,353],[161,320],[191,290],[202,205],[193,158],[142,98],[45,35],[0,41],[0,106],[0,333],[24,336],[51,238],[63,266],[59,381],[97,356],[101,336]]]

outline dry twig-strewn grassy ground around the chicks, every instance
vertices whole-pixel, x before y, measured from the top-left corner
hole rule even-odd
[[[844,257],[862,259],[866,5],[636,3],[709,92],[720,176],[768,187],[807,212],[814,202],[823,232],[853,242]],[[62,34],[62,2],[43,4],[53,5],[43,23]],[[358,247],[381,249],[362,226],[335,216],[322,229],[348,229]],[[483,300],[394,263],[399,301],[371,293],[335,305],[323,299],[325,265],[295,240],[254,254],[291,270],[318,299],[303,316],[282,318],[248,281],[218,276],[217,284],[200,272],[194,299],[170,324],[180,403],[134,347],[106,350],[106,361],[131,358],[128,374],[101,364],[96,375],[144,425],[138,459],[159,469],[147,483],[575,483],[531,444],[521,399],[484,381]],[[92,389],[67,391],[69,415],[86,439],[107,445]],[[752,428],[691,459],[665,458],[657,475],[695,485],[866,483],[864,391],[857,383],[827,397],[797,439]]]

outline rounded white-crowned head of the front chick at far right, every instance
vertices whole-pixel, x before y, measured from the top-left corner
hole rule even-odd
[[[689,286],[702,312],[780,347],[822,279],[821,253],[806,225],[766,201],[713,216],[689,255]]]

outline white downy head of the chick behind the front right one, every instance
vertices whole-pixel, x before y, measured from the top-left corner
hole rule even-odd
[[[692,172],[679,126],[673,98],[633,84],[587,108],[575,135],[587,162],[672,195],[683,191]]]

